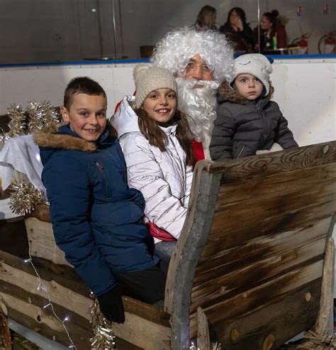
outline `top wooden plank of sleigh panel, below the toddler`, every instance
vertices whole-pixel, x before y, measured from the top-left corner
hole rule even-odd
[[[210,172],[223,173],[222,183],[238,182],[245,178],[289,173],[302,168],[311,168],[336,162],[336,141],[282,152],[267,153],[248,158],[213,163]]]

